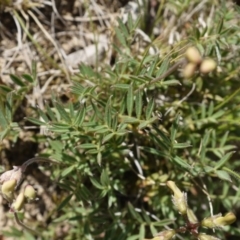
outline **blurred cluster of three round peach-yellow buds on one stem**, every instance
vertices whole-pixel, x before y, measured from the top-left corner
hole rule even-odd
[[[203,59],[200,52],[195,47],[189,47],[185,52],[185,57],[188,60],[187,65],[183,69],[183,76],[185,78],[193,77],[196,70],[199,70],[203,74],[208,74],[217,67],[213,59]]]

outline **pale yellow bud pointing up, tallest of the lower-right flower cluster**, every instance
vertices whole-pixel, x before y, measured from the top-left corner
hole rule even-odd
[[[174,205],[180,214],[187,213],[187,194],[181,192],[181,190],[176,186],[175,182],[167,181],[167,186],[173,191],[172,200]]]

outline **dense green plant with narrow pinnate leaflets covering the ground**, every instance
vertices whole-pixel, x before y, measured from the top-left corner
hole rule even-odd
[[[37,129],[32,141],[41,146],[40,156],[62,163],[50,174],[61,191],[48,213],[48,228],[44,222],[36,224],[38,231],[44,229],[39,237],[58,239],[56,229],[64,225],[63,239],[142,240],[168,225],[180,229],[193,213],[199,219],[229,211],[238,217],[239,18],[224,1],[213,12],[211,1],[201,4],[161,1],[156,24],[164,25],[164,17],[172,14],[176,27],[164,25],[166,32],[150,43],[136,37],[138,27],[145,25],[143,17],[134,21],[129,15],[126,24],[119,19],[112,65],[81,64],[67,100],[52,92],[41,108],[31,107],[21,124],[14,116],[36,81],[36,70],[24,75],[28,89],[21,86],[22,78],[11,76],[23,94],[8,88],[1,98],[1,139],[17,141],[19,132],[31,125]],[[199,9],[205,13],[200,22]],[[188,28],[185,19],[191,23]],[[181,38],[169,44],[172,36]],[[193,62],[185,53],[192,46],[200,59],[186,76],[187,61]],[[203,71],[204,59],[217,66]],[[44,134],[38,131],[43,129]],[[188,220],[175,219],[165,187],[169,179],[189,192]],[[196,224],[181,229],[189,233]],[[239,227],[236,220],[223,231],[188,237],[239,237]],[[153,239],[176,232],[180,230],[166,229]],[[5,234],[23,236],[15,229]]]

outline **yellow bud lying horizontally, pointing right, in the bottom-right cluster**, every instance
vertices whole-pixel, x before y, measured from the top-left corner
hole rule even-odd
[[[212,217],[208,217],[202,220],[201,225],[207,228],[217,228],[230,225],[236,221],[236,216],[229,212],[225,216],[218,214]]]

